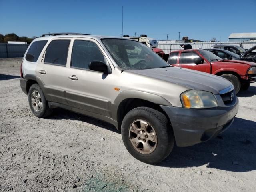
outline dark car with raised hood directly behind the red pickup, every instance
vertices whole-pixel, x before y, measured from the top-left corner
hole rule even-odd
[[[224,49],[205,49],[213,54],[219,56],[222,59],[228,60],[245,60],[250,62],[256,62],[256,46],[250,48],[249,50],[242,53],[242,55],[235,54],[234,52],[224,50]]]

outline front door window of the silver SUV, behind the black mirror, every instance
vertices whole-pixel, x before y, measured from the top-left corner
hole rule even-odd
[[[71,67],[88,69],[91,61],[104,62],[104,55],[94,42],[75,40],[72,50]]]

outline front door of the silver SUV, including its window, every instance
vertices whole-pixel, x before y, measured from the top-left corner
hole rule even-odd
[[[89,69],[91,61],[108,64],[97,42],[74,40],[71,55],[70,68],[66,74],[68,104],[74,108],[110,117],[114,71],[112,70],[112,74],[103,74]],[[76,77],[77,80],[70,77]]]

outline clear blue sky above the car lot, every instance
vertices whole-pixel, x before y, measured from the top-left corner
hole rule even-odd
[[[40,36],[81,32],[120,36],[147,34],[157,40],[227,41],[232,32],[256,32],[256,0],[0,0],[0,33]]]

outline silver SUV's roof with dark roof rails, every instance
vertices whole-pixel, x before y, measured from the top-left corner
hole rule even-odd
[[[122,39],[121,37],[115,37],[115,36],[104,36],[104,35],[53,35],[53,36],[44,36],[44,37],[38,37],[35,39],[37,40],[52,40],[54,38],[91,38],[100,41],[101,39]],[[123,38],[124,39],[124,38]],[[126,39],[126,38],[125,38]],[[132,40],[132,39],[130,39]]]

